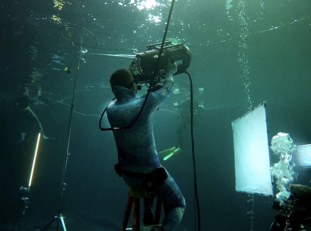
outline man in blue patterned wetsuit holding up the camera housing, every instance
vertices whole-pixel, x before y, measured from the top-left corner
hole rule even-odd
[[[186,208],[184,197],[176,182],[160,165],[152,129],[153,113],[171,94],[173,74],[176,71],[176,63],[169,62],[163,87],[150,93],[137,121],[127,129],[113,131],[118,149],[116,170],[128,186],[146,189],[144,185],[146,176],[150,176],[159,169],[167,174],[167,178],[159,180],[156,188],[149,192],[163,202],[165,217],[162,222],[162,231],[176,230]],[[146,95],[136,98],[135,80],[131,72],[126,69],[114,72],[110,77],[110,85],[117,100],[112,101],[106,108],[108,120],[111,127],[122,128],[131,124],[137,117]],[[144,199],[144,224],[152,224],[152,203],[153,199]]]

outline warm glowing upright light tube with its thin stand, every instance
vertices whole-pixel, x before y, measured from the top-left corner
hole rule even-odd
[[[20,225],[19,225],[19,229],[18,230],[21,230],[21,225],[22,225],[23,217],[24,217],[26,209],[28,209],[29,198],[27,197],[27,194],[30,191],[30,186],[31,186],[31,181],[32,181],[34,169],[35,169],[35,163],[36,163],[36,158],[37,158],[37,152],[38,152],[40,137],[41,137],[41,133],[38,134],[38,139],[37,139],[37,144],[36,144],[36,149],[35,149],[35,154],[34,154],[34,160],[32,162],[32,168],[31,168],[31,172],[30,172],[28,187],[25,188],[24,186],[21,186],[21,188],[20,188],[21,191],[25,191],[25,196],[21,198],[22,202],[21,202],[20,206],[22,206],[21,208],[23,208],[23,211],[21,213],[21,220],[20,220]],[[15,220],[15,222],[13,224],[12,230],[14,230],[17,218],[18,218],[18,215],[17,215],[16,220]]]

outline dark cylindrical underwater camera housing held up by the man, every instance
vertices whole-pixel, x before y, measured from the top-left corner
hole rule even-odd
[[[161,45],[162,43],[147,45],[147,50],[136,54],[136,58],[131,62],[129,70],[132,76],[138,79],[139,83],[151,84]],[[171,41],[165,42],[159,63],[159,71],[155,75],[155,84],[165,77],[165,68],[169,59],[172,63],[176,62],[178,68],[174,75],[183,73],[190,65],[190,49],[183,43],[175,44]]]

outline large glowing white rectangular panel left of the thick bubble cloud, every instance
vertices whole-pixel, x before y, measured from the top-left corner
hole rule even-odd
[[[265,105],[232,122],[235,190],[273,194]]]

